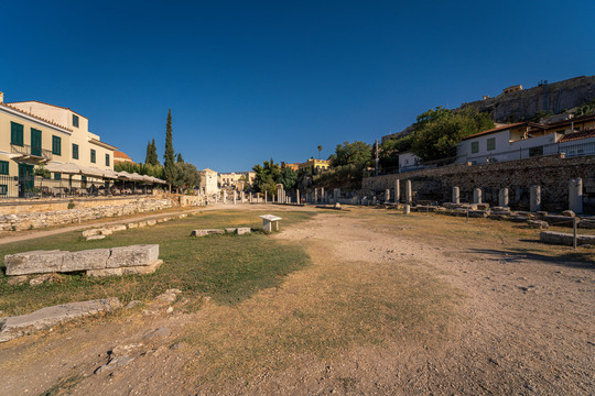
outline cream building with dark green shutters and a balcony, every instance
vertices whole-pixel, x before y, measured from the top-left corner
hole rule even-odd
[[[113,170],[117,147],[89,132],[86,117],[36,100],[6,103],[3,97],[0,92],[0,198],[35,196],[42,187],[80,188],[104,183],[77,174],[35,177],[35,168],[44,164]]]

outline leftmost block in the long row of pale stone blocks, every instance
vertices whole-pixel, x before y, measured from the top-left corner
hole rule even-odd
[[[32,251],[4,256],[7,275],[50,274],[58,272],[68,252]]]

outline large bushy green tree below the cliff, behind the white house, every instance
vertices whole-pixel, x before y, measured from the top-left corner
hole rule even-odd
[[[422,161],[453,157],[463,138],[491,128],[491,117],[473,108],[457,112],[441,107],[430,109],[413,124],[411,151]]]

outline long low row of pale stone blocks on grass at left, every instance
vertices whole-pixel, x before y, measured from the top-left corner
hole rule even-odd
[[[72,273],[85,271],[88,276],[151,274],[163,261],[159,245],[131,245],[93,249],[79,252],[32,251],[4,256],[7,275]]]

